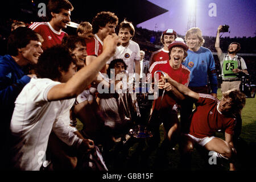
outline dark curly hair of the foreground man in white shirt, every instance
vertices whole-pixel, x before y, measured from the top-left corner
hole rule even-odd
[[[76,64],[66,47],[57,45],[46,49],[38,59],[35,73],[38,78],[54,80],[61,77],[60,71],[68,72],[69,65]]]

